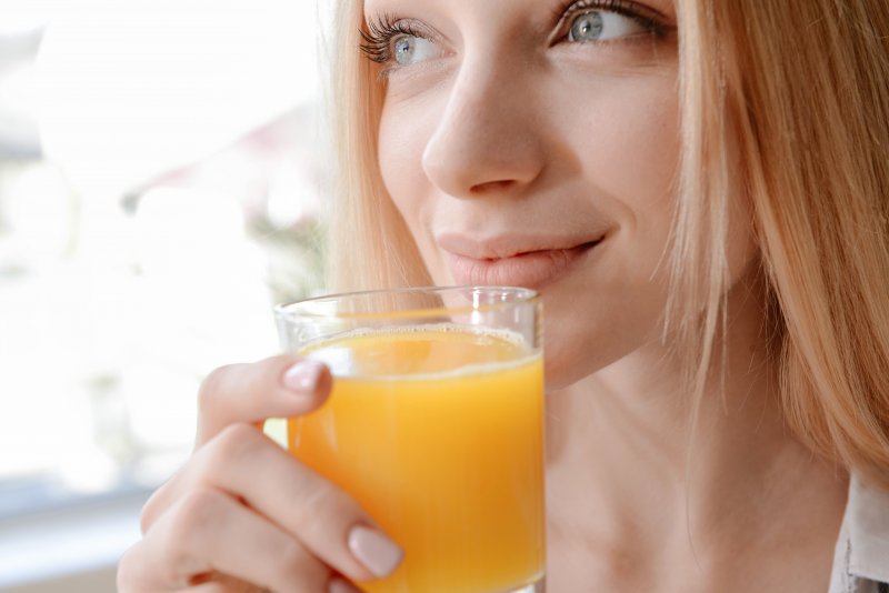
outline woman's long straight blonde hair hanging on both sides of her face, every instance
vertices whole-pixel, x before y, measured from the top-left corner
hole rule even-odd
[[[720,360],[726,235],[741,192],[787,419],[812,450],[889,489],[889,3],[677,6],[682,160],[669,319],[697,353],[692,389]],[[331,285],[429,284],[379,172],[383,88],[358,51],[361,2],[340,0],[334,27]]]

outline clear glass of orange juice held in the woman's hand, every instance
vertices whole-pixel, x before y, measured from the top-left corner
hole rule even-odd
[[[541,302],[517,288],[321,296],[276,309],[333,391],[288,449],[404,550],[368,593],[539,593],[546,565]]]

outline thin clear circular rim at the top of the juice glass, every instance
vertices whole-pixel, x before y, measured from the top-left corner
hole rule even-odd
[[[336,302],[344,299],[362,299],[374,295],[383,294],[442,294],[442,293],[470,293],[472,291],[487,291],[493,293],[499,291],[515,295],[515,300],[485,303],[482,305],[466,305],[466,306],[417,306],[408,309],[390,309],[387,311],[373,311],[362,313],[319,313],[310,310],[300,310],[303,306],[311,306],[312,304],[320,304],[324,302]],[[436,316],[442,314],[459,314],[471,313],[472,311],[496,311],[498,309],[506,309],[516,305],[536,305],[542,300],[541,294],[533,290],[522,287],[497,287],[497,285],[453,285],[453,287],[404,287],[397,289],[374,289],[374,290],[359,290],[350,292],[338,292],[331,294],[322,294],[312,296],[310,299],[301,299],[290,303],[276,304],[273,306],[274,316],[277,319],[399,319],[399,318],[422,318]]]

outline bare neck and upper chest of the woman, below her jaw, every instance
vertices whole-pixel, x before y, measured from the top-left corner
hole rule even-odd
[[[759,332],[732,336],[693,436],[657,346],[657,372],[621,361],[548,394],[553,591],[827,590],[848,476],[786,428]]]

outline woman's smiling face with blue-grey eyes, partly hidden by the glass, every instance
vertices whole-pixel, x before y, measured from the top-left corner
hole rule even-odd
[[[671,0],[364,0],[386,187],[438,284],[540,290],[548,381],[659,336],[679,155]]]

